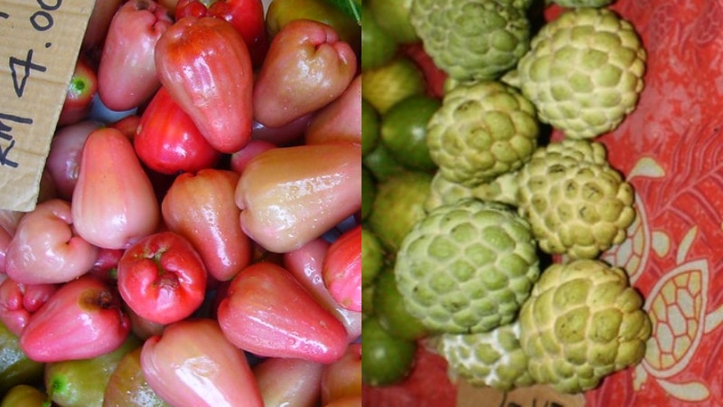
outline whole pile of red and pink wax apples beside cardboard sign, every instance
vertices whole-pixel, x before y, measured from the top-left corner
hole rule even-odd
[[[361,24],[206,3],[96,3],[0,211],[3,406],[361,405]]]

